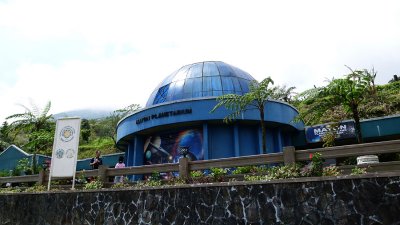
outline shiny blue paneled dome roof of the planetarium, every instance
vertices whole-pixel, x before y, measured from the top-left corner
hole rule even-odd
[[[255,79],[224,62],[199,62],[181,67],[161,82],[146,107],[163,102],[225,94],[243,95]]]

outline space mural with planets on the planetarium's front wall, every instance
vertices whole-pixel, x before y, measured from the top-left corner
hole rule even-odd
[[[147,137],[144,144],[144,164],[177,163],[181,147],[188,147],[190,160],[203,160],[203,131],[186,129],[155,134]]]

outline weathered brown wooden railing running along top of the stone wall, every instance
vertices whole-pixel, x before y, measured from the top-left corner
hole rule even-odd
[[[365,144],[345,145],[329,148],[317,148],[311,150],[295,150],[294,147],[284,147],[282,153],[261,154],[252,156],[232,157],[224,159],[198,160],[189,161],[187,158],[181,158],[179,163],[166,163],[157,165],[132,166],[126,168],[107,168],[101,166],[97,170],[84,170],[76,172],[76,178],[84,177],[99,177],[102,181],[107,181],[108,177],[126,176],[126,175],[141,175],[151,174],[153,172],[179,172],[179,176],[187,178],[190,171],[205,170],[213,167],[232,168],[238,166],[253,166],[266,165],[273,163],[290,164],[299,161],[309,160],[309,155],[315,152],[322,154],[325,159],[335,159],[350,156],[361,156],[382,153],[397,153],[400,152],[400,140],[374,142]],[[400,171],[400,162],[385,162],[378,164],[370,164],[370,171]],[[344,171],[349,171],[354,166],[340,167]],[[52,180],[60,180],[65,178],[52,178]],[[71,178],[68,178],[71,179]],[[0,185],[4,183],[24,183],[37,182],[45,184],[48,181],[48,173],[40,172],[38,175],[2,177]]]

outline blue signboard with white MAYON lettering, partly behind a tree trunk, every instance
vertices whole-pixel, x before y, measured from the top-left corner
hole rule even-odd
[[[308,143],[321,142],[325,134],[331,131],[330,124],[312,126],[306,128],[306,139]],[[356,136],[354,121],[340,123],[336,131],[336,139],[354,138]]]

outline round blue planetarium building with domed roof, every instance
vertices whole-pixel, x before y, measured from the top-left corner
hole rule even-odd
[[[123,118],[117,126],[117,144],[125,150],[127,166],[178,162],[187,147],[191,160],[261,154],[259,112],[248,110],[233,123],[223,123],[224,107],[210,111],[216,98],[243,95],[255,79],[224,62],[199,62],[181,67],[152,92],[146,107]],[[284,102],[265,106],[267,152],[292,145],[293,134],[304,129],[294,123],[297,110]]]

